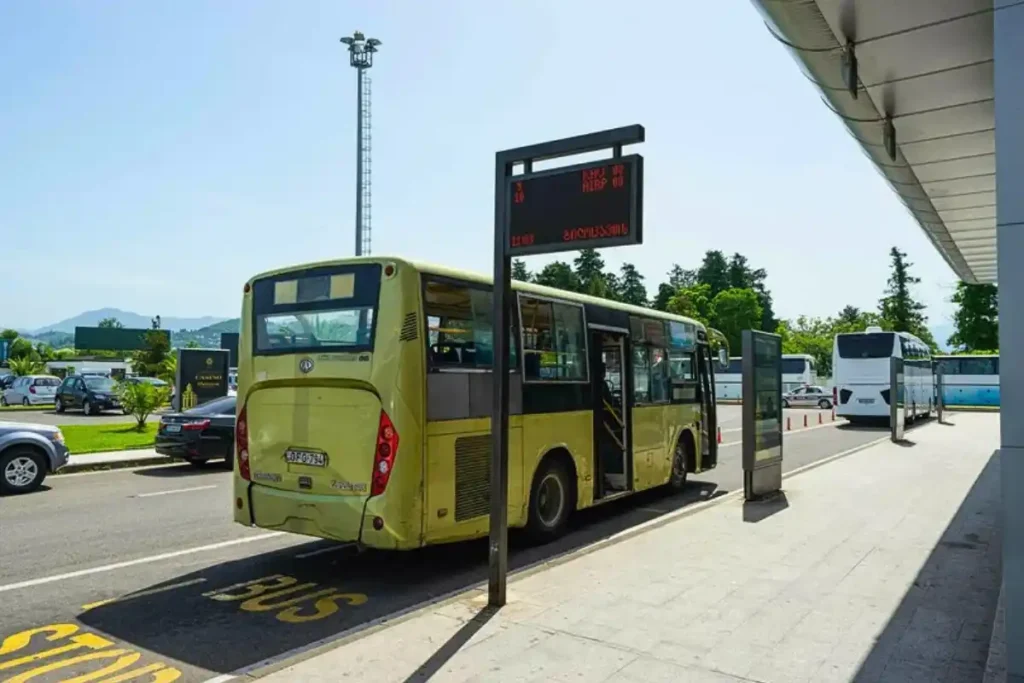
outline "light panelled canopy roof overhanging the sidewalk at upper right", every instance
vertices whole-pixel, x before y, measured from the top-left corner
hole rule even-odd
[[[993,0],[754,2],[953,271],[994,283]]]

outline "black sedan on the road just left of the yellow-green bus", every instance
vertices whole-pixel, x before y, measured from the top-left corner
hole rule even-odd
[[[201,403],[160,418],[157,453],[181,458],[197,467],[211,460],[234,463],[234,396]]]

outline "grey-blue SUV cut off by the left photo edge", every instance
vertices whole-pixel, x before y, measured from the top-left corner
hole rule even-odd
[[[68,464],[59,427],[0,422],[0,494],[28,494]]]

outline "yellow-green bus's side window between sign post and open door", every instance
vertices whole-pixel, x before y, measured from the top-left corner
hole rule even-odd
[[[520,297],[522,355],[527,382],[586,382],[583,308]]]

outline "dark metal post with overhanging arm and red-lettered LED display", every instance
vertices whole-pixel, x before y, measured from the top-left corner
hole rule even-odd
[[[495,157],[495,369],[487,581],[487,602],[493,607],[505,604],[508,573],[511,259],[641,244],[643,157],[623,157],[623,145],[643,141],[643,126],[633,125],[506,150]],[[600,150],[611,150],[612,158],[534,172],[534,162]],[[516,164],[522,164],[520,175],[513,175]]]

